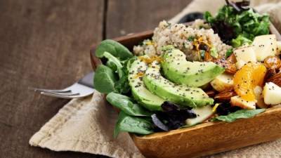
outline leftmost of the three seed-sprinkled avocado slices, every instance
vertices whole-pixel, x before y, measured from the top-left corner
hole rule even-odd
[[[135,60],[129,69],[129,84],[133,98],[150,111],[162,110],[161,105],[165,100],[148,91],[143,84],[143,75],[148,65],[140,59]]]

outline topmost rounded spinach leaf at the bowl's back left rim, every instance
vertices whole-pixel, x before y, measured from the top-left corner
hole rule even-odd
[[[121,60],[126,60],[133,57],[133,54],[128,48],[112,39],[106,39],[100,42],[100,45],[98,45],[96,48],[96,56],[98,58],[103,58],[105,52],[108,52]]]

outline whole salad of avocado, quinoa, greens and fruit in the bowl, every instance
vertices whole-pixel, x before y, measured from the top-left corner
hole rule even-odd
[[[114,136],[231,122],[280,104],[281,41],[248,5],[228,2],[190,26],[162,21],[133,53],[102,41],[94,87],[119,109]]]

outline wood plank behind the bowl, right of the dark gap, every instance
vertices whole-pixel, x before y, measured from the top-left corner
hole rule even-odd
[[[169,20],[192,0],[108,1],[106,37],[153,29],[161,20]]]

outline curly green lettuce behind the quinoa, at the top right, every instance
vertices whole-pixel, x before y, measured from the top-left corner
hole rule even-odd
[[[214,17],[209,12],[204,13],[204,19],[224,43],[232,44],[234,47],[252,41],[256,36],[269,34],[268,14],[255,13],[251,8],[235,11],[233,6],[226,5],[220,8]]]

